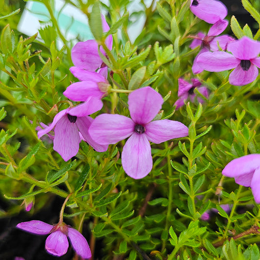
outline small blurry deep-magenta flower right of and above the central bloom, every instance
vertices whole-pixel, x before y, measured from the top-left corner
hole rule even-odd
[[[178,79],[179,90],[178,90],[178,100],[174,103],[176,105],[176,109],[179,109],[184,105],[184,101],[190,99],[192,102],[195,100],[194,89],[197,87],[198,91],[201,95],[208,98],[208,89],[204,86],[201,86],[201,83],[197,79],[191,79],[191,83],[186,80]],[[202,103],[204,100],[198,98],[198,101]]]

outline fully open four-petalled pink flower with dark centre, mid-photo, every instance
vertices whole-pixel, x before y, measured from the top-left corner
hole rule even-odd
[[[115,144],[125,138],[121,155],[126,174],[134,179],[145,177],[153,167],[150,142],[161,143],[188,135],[188,128],[178,121],[155,120],[163,99],[151,87],[137,89],[128,97],[130,116],[102,114],[89,128],[100,144]]]

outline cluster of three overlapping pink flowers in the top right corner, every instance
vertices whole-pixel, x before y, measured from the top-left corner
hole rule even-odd
[[[206,36],[198,33],[190,45],[192,49],[201,47],[192,65],[193,73],[198,74],[203,70],[220,72],[235,68],[229,75],[231,85],[243,86],[253,82],[260,68],[260,42],[246,36],[239,40],[227,35],[216,37],[228,24],[223,20],[227,15],[226,7],[218,0],[191,0],[190,9],[200,19],[214,23]],[[232,54],[224,52],[226,50]]]

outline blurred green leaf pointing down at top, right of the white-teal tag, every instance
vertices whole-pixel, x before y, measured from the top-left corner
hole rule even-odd
[[[92,11],[90,13],[89,27],[95,39],[100,41],[102,39],[103,30],[99,1],[95,1],[92,7]]]

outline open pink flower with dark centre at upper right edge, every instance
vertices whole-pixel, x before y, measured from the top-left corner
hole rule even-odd
[[[203,70],[220,72],[235,68],[229,75],[229,83],[243,86],[253,82],[260,68],[260,42],[244,36],[227,45],[226,52],[202,53],[197,62]]]

